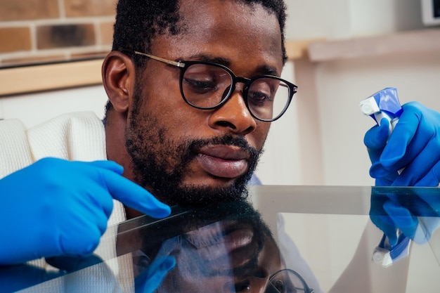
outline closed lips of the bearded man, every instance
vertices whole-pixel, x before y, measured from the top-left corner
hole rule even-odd
[[[232,145],[214,145],[202,148],[196,158],[212,176],[235,178],[247,171],[249,154]]]

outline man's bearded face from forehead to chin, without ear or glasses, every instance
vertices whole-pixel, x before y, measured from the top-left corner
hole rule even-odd
[[[181,1],[182,30],[160,35],[151,54],[169,60],[204,60],[238,77],[280,74],[283,67],[276,15],[241,1]],[[136,77],[129,108],[127,148],[135,180],[168,204],[206,204],[245,195],[269,123],[250,115],[237,84],[216,110],[188,105],[180,70],[148,60]]]

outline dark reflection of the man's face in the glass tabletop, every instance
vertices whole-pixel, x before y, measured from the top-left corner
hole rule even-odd
[[[157,292],[304,292],[257,212],[226,218],[162,242],[156,257],[177,264]]]

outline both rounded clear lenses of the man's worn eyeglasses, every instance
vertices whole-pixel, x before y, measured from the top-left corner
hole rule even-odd
[[[181,91],[190,105],[212,109],[231,95],[232,84],[233,77],[224,68],[198,63],[183,72]],[[264,120],[278,118],[290,100],[289,86],[276,77],[253,79],[244,94],[252,115]]]

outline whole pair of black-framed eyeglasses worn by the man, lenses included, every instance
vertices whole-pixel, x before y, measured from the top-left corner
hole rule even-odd
[[[174,65],[181,70],[180,90],[183,100],[194,108],[220,108],[235,91],[235,84],[245,84],[242,91],[252,117],[264,122],[280,118],[297,92],[297,86],[273,75],[259,75],[248,79],[237,77],[226,66],[204,61],[173,61],[123,49],[130,53]]]

